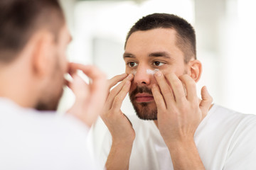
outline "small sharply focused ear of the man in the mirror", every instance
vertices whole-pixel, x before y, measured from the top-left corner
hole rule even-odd
[[[188,62],[188,75],[195,80],[199,81],[202,74],[202,64],[199,60],[191,60]]]

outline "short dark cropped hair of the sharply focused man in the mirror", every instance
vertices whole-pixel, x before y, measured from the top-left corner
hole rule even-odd
[[[191,58],[196,59],[196,33],[193,26],[185,19],[168,13],[153,13],[139,19],[129,30],[124,48],[132,33],[138,30],[152,30],[155,28],[173,28],[176,30],[176,45],[185,56],[184,62],[188,63]]]

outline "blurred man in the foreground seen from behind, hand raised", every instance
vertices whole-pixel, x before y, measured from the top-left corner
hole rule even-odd
[[[104,105],[107,81],[95,67],[68,63],[70,40],[57,0],[0,1],[0,169],[97,169],[87,131]],[[75,103],[61,117],[54,111],[65,84]]]

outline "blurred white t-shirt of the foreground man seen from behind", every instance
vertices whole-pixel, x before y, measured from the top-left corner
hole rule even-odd
[[[88,128],[72,115],[39,112],[0,98],[0,169],[97,169]]]

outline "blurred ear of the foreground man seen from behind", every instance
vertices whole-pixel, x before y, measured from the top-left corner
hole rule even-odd
[[[33,36],[32,69],[33,74],[42,77],[49,72],[50,60],[53,59],[53,35],[48,31],[40,31]]]

